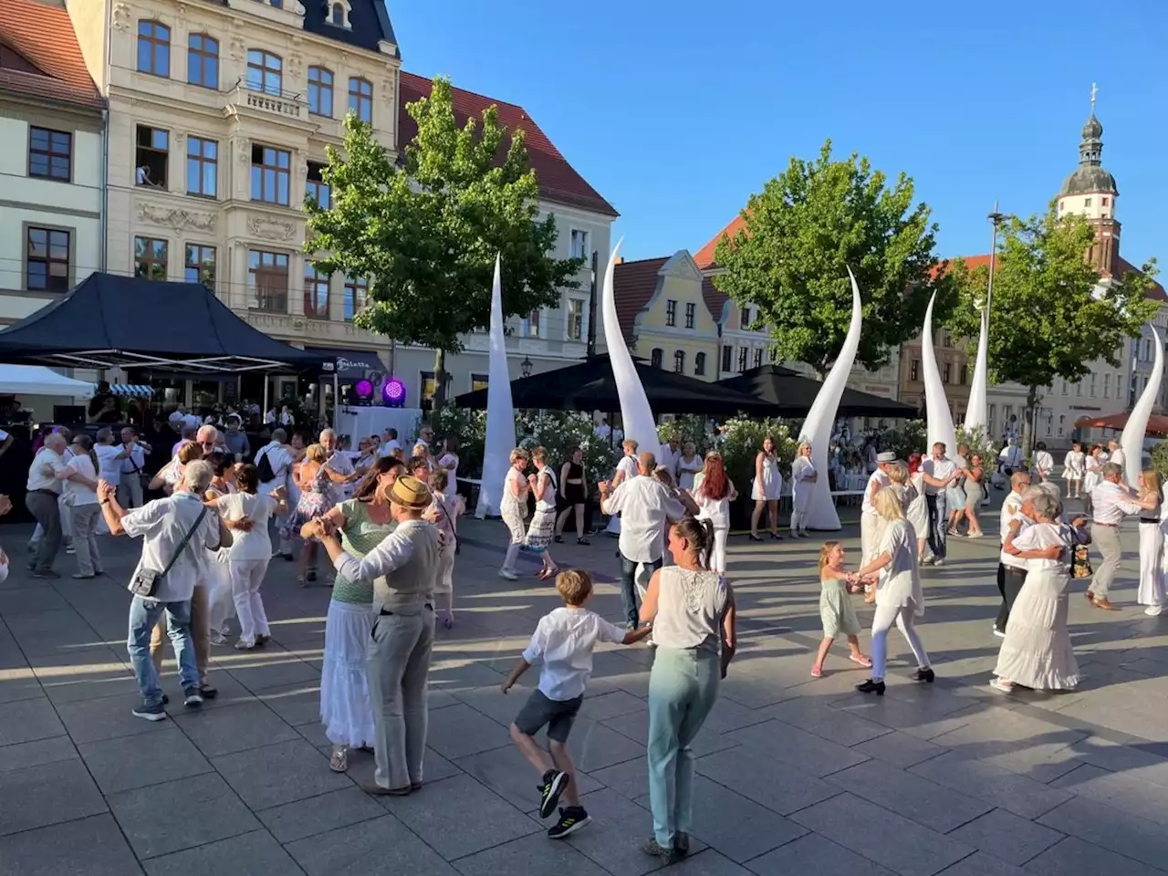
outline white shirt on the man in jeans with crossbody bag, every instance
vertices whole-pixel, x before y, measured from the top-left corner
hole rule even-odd
[[[141,508],[135,508],[121,519],[121,528],[126,535],[144,537],[142,556],[138,569],[153,569],[161,572],[174,557],[182,536],[194,526],[202,500],[194,493],[181,491],[165,499],[155,499]],[[195,584],[202,576],[202,558],[207,550],[218,549],[218,519],[214,512],[203,516],[199,529],[192,534],[186,549],[174,561],[171,571],[158,584],[152,599],[162,603],[185,603],[195,592]]]

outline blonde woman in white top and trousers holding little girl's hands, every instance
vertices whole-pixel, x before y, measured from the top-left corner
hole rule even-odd
[[[880,578],[876,580],[876,613],[872,617],[871,633],[872,676],[856,684],[856,690],[862,694],[884,695],[888,631],[894,623],[917,659],[913,681],[932,683],[934,677],[929,665],[929,654],[920,644],[916,630],[916,618],[925,613],[925,595],[920,589],[917,556],[913,550],[917,534],[904,519],[901,502],[901,496],[892,487],[884,487],[876,493],[872,505],[884,521],[880,554],[857,572],[860,577],[869,579],[875,572],[880,572]]]

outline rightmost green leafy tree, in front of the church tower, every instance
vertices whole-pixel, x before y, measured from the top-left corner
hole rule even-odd
[[[1030,454],[1034,415],[1056,377],[1078,381],[1103,360],[1119,367],[1125,339],[1138,338],[1159,304],[1145,297],[1155,262],[1100,283],[1085,253],[1094,229],[1082,216],[1058,217],[1055,203],[1038,216],[1007,217],[995,257],[989,311],[989,380],[1027,388],[1023,452]],[[948,274],[959,304],[948,326],[972,353],[980,332],[988,269],[971,271],[961,259]]]

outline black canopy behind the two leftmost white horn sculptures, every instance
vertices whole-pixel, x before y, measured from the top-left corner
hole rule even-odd
[[[757,398],[717,383],[653,368],[640,361],[635,361],[634,366],[654,413],[732,416],[739,412],[763,413],[769,406]],[[512,402],[516,408],[620,410],[620,396],[607,355],[592,356],[578,364],[542,371],[530,377],[519,377],[512,381],[510,387]],[[460,408],[485,409],[487,392],[487,389],[466,392],[458,396],[454,403]]]

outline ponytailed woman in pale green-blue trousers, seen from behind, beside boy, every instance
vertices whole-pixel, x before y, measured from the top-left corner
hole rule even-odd
[[[642,623],[653,624],[649,673],[649,804],[653,839],[644,850],[674,863],[689,851],[694,752],[690,744],[718,697],[734,656],[734,592],[709,570],[714,526],[687,516],[669,529],[675,565],[653,572]]]

